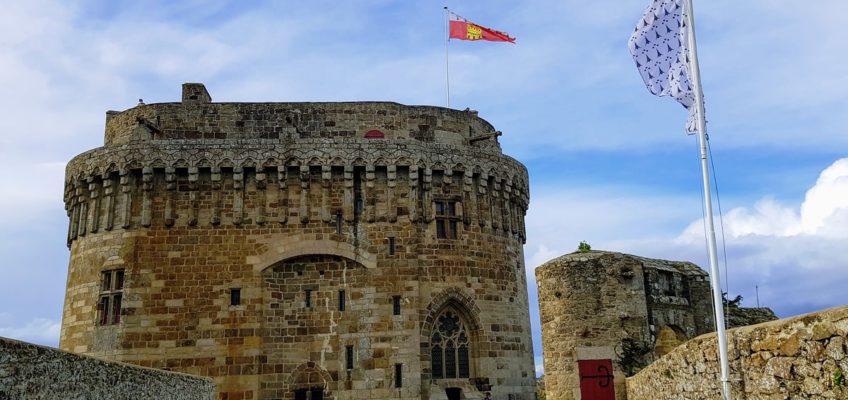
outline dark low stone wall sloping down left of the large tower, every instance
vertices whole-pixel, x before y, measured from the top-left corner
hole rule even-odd
[[[107,362],[0,337],[0,400],[209,400],[209,378]]]

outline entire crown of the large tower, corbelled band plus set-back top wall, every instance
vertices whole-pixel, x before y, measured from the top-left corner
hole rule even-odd
[[[399,210],[430,223],[434,196],[458,199],[466,226],[525,238],[527,170],[476,112],[209,103],[202,85],[183,89],[182,103],[110,112],[106,145],[68,164],[69,244],[116,227],[352,222],[359,212],[365,223],[395,223]]]

